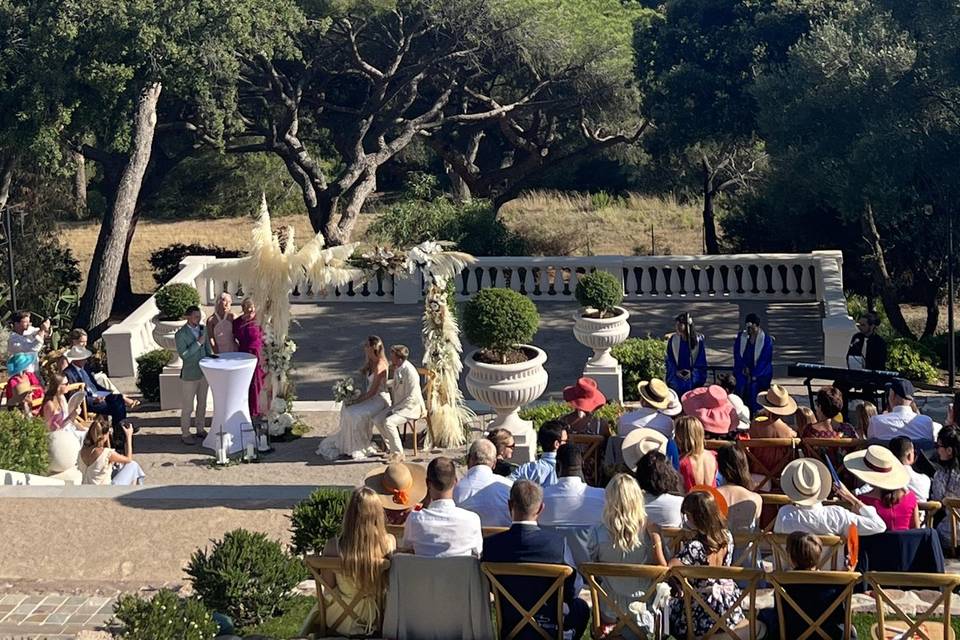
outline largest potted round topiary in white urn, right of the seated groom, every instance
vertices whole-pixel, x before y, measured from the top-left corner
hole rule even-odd
[[[467,390],[493,407],[490,428],[509,429],[531,448],[533,427],[518,411],[547,388],[547,354],[528,344],[539,325],[537,307],[511,289],[485,289],[463,308],[464,333],[478,347],[466,359]]]

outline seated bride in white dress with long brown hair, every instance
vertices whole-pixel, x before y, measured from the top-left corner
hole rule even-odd
[[[390,406],[388,364],[383,354],[383,340],[379,337],[368,337],[363,351],[366,363],[360,373],[367,377],[367,390],[356,399],[343,403],[340,430],[324,438],[317,448],[317,455],[327,460],[360,460],[377,453],[377,448],[373,446],[373,419]]]

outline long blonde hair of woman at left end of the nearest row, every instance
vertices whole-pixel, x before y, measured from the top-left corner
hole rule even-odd
[[[393,549],[387,538],[383,505],[373,489],[360,487],[350,496],[338,540],[344,572],[368,594],[382,591],[383,560]]]

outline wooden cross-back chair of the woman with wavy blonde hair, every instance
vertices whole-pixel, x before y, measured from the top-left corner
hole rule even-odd
[[[606,626],[601,617],[601,602],[611,611],[616,613],[614,627],[605,634],[608,638],[622,637],[623,631],[629,629],[639,638],[648,635],[638,624],[635,615],[616,603],[612,596],[607,593],[602,584],[602,580],[597,578],[635,578],[637,580],[649,580],[650,587],[644,592],[643,599],[640,600],[646,605],[647,609],[653,608],[653,598],[657,594],[657,585],[663,582],[670,569],[667,567],[647,566],[638,564],[614,564],[606,562],[584,562],[577,567],[580,575],[587,581],[590,588],[590,600],[593,602],[591,607],[591,621],[593,626],[593,637],[600,638],[603,634],[603,628]],[[660,637],[659,628],[652,630],[653,637]]]

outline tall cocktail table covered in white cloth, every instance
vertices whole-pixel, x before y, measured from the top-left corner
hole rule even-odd
[[[250,430],[250,381],[257,366],[257,357],[249,353],[221,353],[215,358],[200,360],[210,391],[213,393],[213,422],[203,440],[203,446],[219,450],[220,436],[226,445],[227,455],[243,450],[241,442],[244,425]],[[252,430],[243,434],[243,440],[255,442]]]

